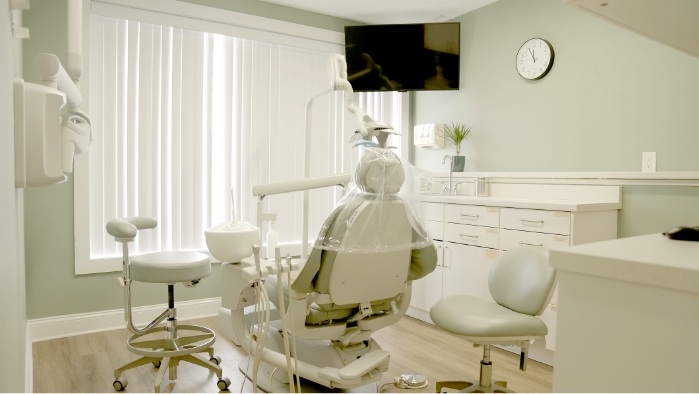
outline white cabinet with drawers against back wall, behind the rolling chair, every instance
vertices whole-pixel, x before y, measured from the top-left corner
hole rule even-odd
[[[616,202],[608,198],[572,202],[501,196],[424,197],[424,221],[439,261],[434,272],[413,283],[408,315],[431,323],[429,310],[442,297],[471,294],[490,298],[490,265],[502,251],[522,245],[553,249],[616,238],[621,200],[619,188],[614,188],[616,194],[612,190],[607,197],[613,200],[616,195]],[[530,352],[532,358],[548,364],[553,364],[557,309],[554,296],[542,316],[549,334]]]

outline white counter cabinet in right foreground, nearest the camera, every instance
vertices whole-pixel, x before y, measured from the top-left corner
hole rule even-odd
[[[554,392],[699,392],[699,242],[662,234],[552,251]]]

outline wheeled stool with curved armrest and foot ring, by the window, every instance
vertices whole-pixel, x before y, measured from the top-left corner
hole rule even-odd
[[[114,370],[114,389],[122,391],[126,388],[128,382],[121,378],[124,371],[150,363],[159,368],[154,384],[155,392],[159,393],[165,372],[169,372],[170,380],[177,379],[177,366],[180,361],[186,361],[216,373],[217,387],[226,390],[230,380],[222,377],[219,366],[221,359],[214,357],[211,347],[216,340],[216,334],[207,327],[177,324],[175,309],[175,283],[191,287],[208,276],[211,273],[209,256],[198,252],[169,251],[143,254],[129,260],[128,243],[136,238],[138,230],[152,229],[157,225],[158,222],[150,217],[114,219],[107,223],[107,232],[123,244],[124,276],[121,279],[124,285],[124,315],[127,328],[133,333],[126,346],[131,353],[141,356]],[[167,309],[143,328],[133,325],[131,281],[163,283],[168,287]],[[159,325],[164,320],[166,324]],[[166,335],[159,334],[162,332]],[[185,333],[186,335],[181,335]],[[194,354],[204,352],[208,353],[208,360]]]

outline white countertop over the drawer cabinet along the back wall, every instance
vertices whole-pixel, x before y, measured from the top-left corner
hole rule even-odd
[[[571,201],[532,198],[476,197],[466,195],[421,194],[420,200],[447,204],[483,205],[489,207],[529,208],[556,211],[586,212],[621,209],[620,201]]]

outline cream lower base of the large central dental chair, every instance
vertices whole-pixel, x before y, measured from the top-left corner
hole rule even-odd
[[[274,262],[263,260],[262,271],[265,272],[268,269],[274,269]],[[257,328],[249,324],[255,320],[251,318],[254,312],[246,307],[255,305],[257,302],[252,290],[252,283],[257,281],[255,272],[255,265],[249,259],[244,259],[242,263],[222,264],[221,275],[226,286],[222,289],[220,318],[229,319],[224,332],[231,332],[233,335],[229,335],[229,338],[250,354],[250,361],[243,361],[239,366],[240,371],[252,381],[251,366],[255,356],[260,357],[257,385],[268,392],[288,391],[283,330],[277,327],[270,328],[264,342],[264,349],[259,354],[257,354],[256,342],[260,341],[260,338],[253,338],[251,335]],[[299,301],[290,300],[290,303],[294,302]],[[303,303],[302,310],[305,311],[306,300],[303,299],[300,302]],[[275,311],[278,313],[278,310]],[[298,318],[305,318],[305,314]],[[357,336],[363,338],[361,334]],[[300,337],[295,339],[296,359],[292,360],[292,367],[298,368],[298,375],[303,379],[304,391],[327,392],[328,389],[376,391],[376,383],[381,379],[382,373],[388,369],[389,353],[381,349],[371,338],[359,342],[352,341],[346,345],[340,341]],[[322,387],[316,386],[314,390],[314,384]]]

